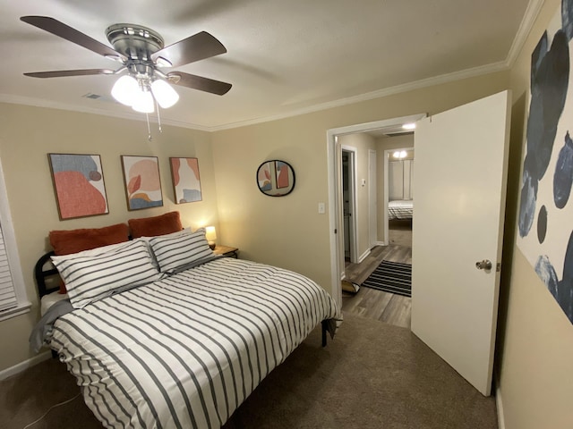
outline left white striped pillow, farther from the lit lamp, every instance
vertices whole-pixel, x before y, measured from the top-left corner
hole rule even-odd
[[[74,308],[106,298],[114,290],[159,280],[144,240],[133,240],[96,256],[64,255],[52,261]]]

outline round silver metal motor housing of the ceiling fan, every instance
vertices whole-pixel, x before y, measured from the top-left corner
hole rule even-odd
[[[151,61],[151,54],[162,49],[163,38],[153,29],[137,24],[114,24],[106,29],[107,40],[127,58]]]

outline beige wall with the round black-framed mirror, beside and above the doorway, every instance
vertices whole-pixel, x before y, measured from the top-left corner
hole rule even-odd
[[[286,267],[331,292],[327,130],[413,114],[442,112],[509,86],[509,73],[377,98],[354,105],[213,133],[220,230],[241,255]],[[284,159],[296,172],[296,188],[269,198],[255,184],[267,159]]]

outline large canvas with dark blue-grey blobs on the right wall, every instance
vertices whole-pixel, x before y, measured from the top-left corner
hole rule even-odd
[[[573,0],[531,55],[531,96],[518,213],[517,247],[573,323],[573,91],[569,88]]]

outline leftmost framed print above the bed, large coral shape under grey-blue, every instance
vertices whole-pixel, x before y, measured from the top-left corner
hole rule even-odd
[[[60,220],[108,214],[98,155],[47,154]]]

